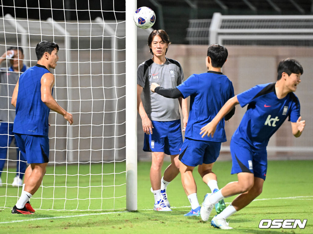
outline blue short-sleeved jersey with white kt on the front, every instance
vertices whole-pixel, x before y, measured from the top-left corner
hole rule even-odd
[[[232,140],[254,149],[266,148],[269,138],[279,129],[285,119],[296,122],[300,117],[300,102],[294,93],[278,99],[275,83],[259,84],[237,95],[239,104],[248,104]]]

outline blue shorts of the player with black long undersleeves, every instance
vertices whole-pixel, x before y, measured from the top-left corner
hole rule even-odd
[[[221,142],[185,138],[178,159],[187,166],[211,164],[218,158]]]

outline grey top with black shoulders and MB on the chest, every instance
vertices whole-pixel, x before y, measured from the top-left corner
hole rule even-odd
[[[180,63],[166,58],[164,64],[155,64],[152,59],[138,66],[137,84],[143,87],[144,108],[150,120],[172,121],[179,120],[178,99],[165,98],[152,93],[151,83],[155,82],[164,88],[174,88],[184,81]]]

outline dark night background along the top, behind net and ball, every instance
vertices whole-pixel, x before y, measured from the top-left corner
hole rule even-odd
[[[2,0],[0,16],[7,13],[17,18],[35,18],[46,20],[93,20],[101,17],[104,20],[124,20],[125,1],[121,0]],[[102,3],[101,3],[102,2]],[[156,13],[154,29],[170,32],[172,43],[187,44],[186,29],[189,19],[210,19],[214,12],[223,15],[298,15],[312,14],[312,0],[297,0],[298,7],[291,0],[191,0],[192,5],[183,0],[156,0],[159,5],[149,0],[137,0],[137,7],[147,6]],[[219,2],[219,4],[217,3]],[[272,4],[270,4],[271,2]],[[274,5],[273,5],[274,4]],[[40,10],[39,10],[40,8]],[[52,9],[52,10],[51,10]],[[64,10],[65,9],[65,10]],[[161,15],[163,15],[163,20]],[[38,17],[39,16],[39,17]],[[161,21],[162,20],[162,21]]]

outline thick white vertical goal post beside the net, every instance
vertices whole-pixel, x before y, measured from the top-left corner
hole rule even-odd
[[[126,209],[137,210],[137,1],[126,0]]]

